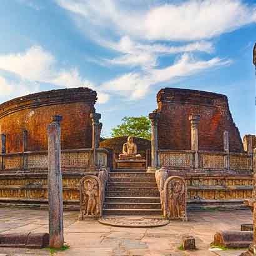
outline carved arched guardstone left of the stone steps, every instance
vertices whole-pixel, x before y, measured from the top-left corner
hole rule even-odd
[[[102,216],[102,184],[94,175],[86,175],[80,180],[79,220],[95,220]]]

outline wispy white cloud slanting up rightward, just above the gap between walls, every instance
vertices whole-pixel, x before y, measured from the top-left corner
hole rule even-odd
[[[124,74],[102,84],[102,89],[120,94],[126,99],[136,100],[144,97],[150,86],[154,84],[176,81],[182,77],[229,64],[229,60],[213,58],[209,61],[200,61],[194,59],[190,54],[183,54],[177,62],[165,69],[151,69],[144,73]]]

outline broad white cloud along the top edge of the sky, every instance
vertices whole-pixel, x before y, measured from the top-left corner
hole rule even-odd
[[[242,0],[189,0],[130,9],[125,1],[56,0],[92,26],[150,40],[210,39],[256,22],[256,7]]]

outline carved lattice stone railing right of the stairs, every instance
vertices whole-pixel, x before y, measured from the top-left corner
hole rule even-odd
[[[195,157],[198,154],[198,158]],[[198,164],[195,160],[198,159]],[[199,150],[158,150],[158,167],[168,169],[252,171],[252,155]],[[198,166],[198,167],[196,167]]]

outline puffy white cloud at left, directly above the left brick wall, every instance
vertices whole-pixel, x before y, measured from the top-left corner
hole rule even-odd
[[[8,79],[1,76],[1,95],[7,93],[12,95],[13,91],[19,95],[34,92],[34,85],[37,83],[49,83],[60,87],[86,86],[96,89],[91,82],[79,74],[76,67],[72,69],[58,68],[54,56],[50,52],[45,51],[41,46],[32,46],[25,52],[0,55],[0,70],[20,77],[21,81],[16,82],[14,85],[13,82],[8,82]],[[32,86],[27,86],[26,84],[32,84]],[[39,89],[38,86],[36,88]],[[105,103],[108,99],[108,95],[102,92],[99,95],[98,102]]]

